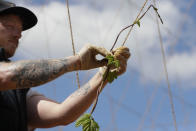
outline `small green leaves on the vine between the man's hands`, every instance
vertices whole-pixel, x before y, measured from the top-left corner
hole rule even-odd
[[[115,66],[118,68],[120,66],[119,60],[116,60],[113,56],[107,55],[106,59],[108,60],[108,66]],[[106,74],[104,74],[106,75]],[[105,76],[104,76],[105,77]],[[109,83],[112,83],[114,79],[117,79],[117,72],[116,71],[109,71],[107,75],[107,80]]]

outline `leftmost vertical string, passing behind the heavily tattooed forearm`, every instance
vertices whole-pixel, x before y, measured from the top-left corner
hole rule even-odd
[[[72,49],[73,49],[73,54],[76,55],[75,46],[74,46],[74,39],[73,39],[72,24],[71,24],[71,16],[70,16],[70,11],[69,11],[69,0],[66,0],[66,3],[67,3],[69,28],[70,28],[71,41],[72,41]],[[80,80],[79,80],[79,73],[78,73],[78,71],[76,71],[76,79],[77,79],[78,88],[80,88]]]

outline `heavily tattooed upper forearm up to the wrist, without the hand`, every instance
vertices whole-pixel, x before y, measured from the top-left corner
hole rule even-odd
[[[0,90],[39,86],[58,76],[80,69],[79,56],[64,59],[1,62]]]

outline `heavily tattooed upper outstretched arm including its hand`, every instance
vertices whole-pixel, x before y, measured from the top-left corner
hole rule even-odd
[[[58,76],[75,70],[89,70],[107,64],[96,55],[109,54],[105,48],[84,46],[77,56],[64,59],[18,61],[0,64],[0,91],[39,86]]]

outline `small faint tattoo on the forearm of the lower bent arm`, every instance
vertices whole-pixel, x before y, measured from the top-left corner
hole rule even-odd
[[[80,89],[76,90],[72,95],[71,97],[74,97],[74,96],[82,96],[82,95],[87,95],[89,89],[90,89],[90,84],[87,83],[86,85],[82,86]]]

